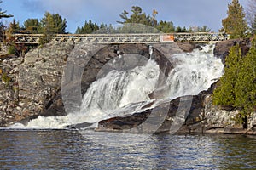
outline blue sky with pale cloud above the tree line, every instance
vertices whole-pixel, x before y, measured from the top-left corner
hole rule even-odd
[[[172,21],[175,26],[208,26],[212,31],[221,28],[228,3],[232,0],[3,0],[1,7],[23,24],[28,18],[41,19],[45,11],[61,14],[67,20],[67,31],[73,33],[85,20],[100,24],[117,24],[119,14],[140,6],[146,14],[156,9],[157,20]],[[246,8],[247,0],[240,0]],[[4,19],[8,24],[13,19]]]

